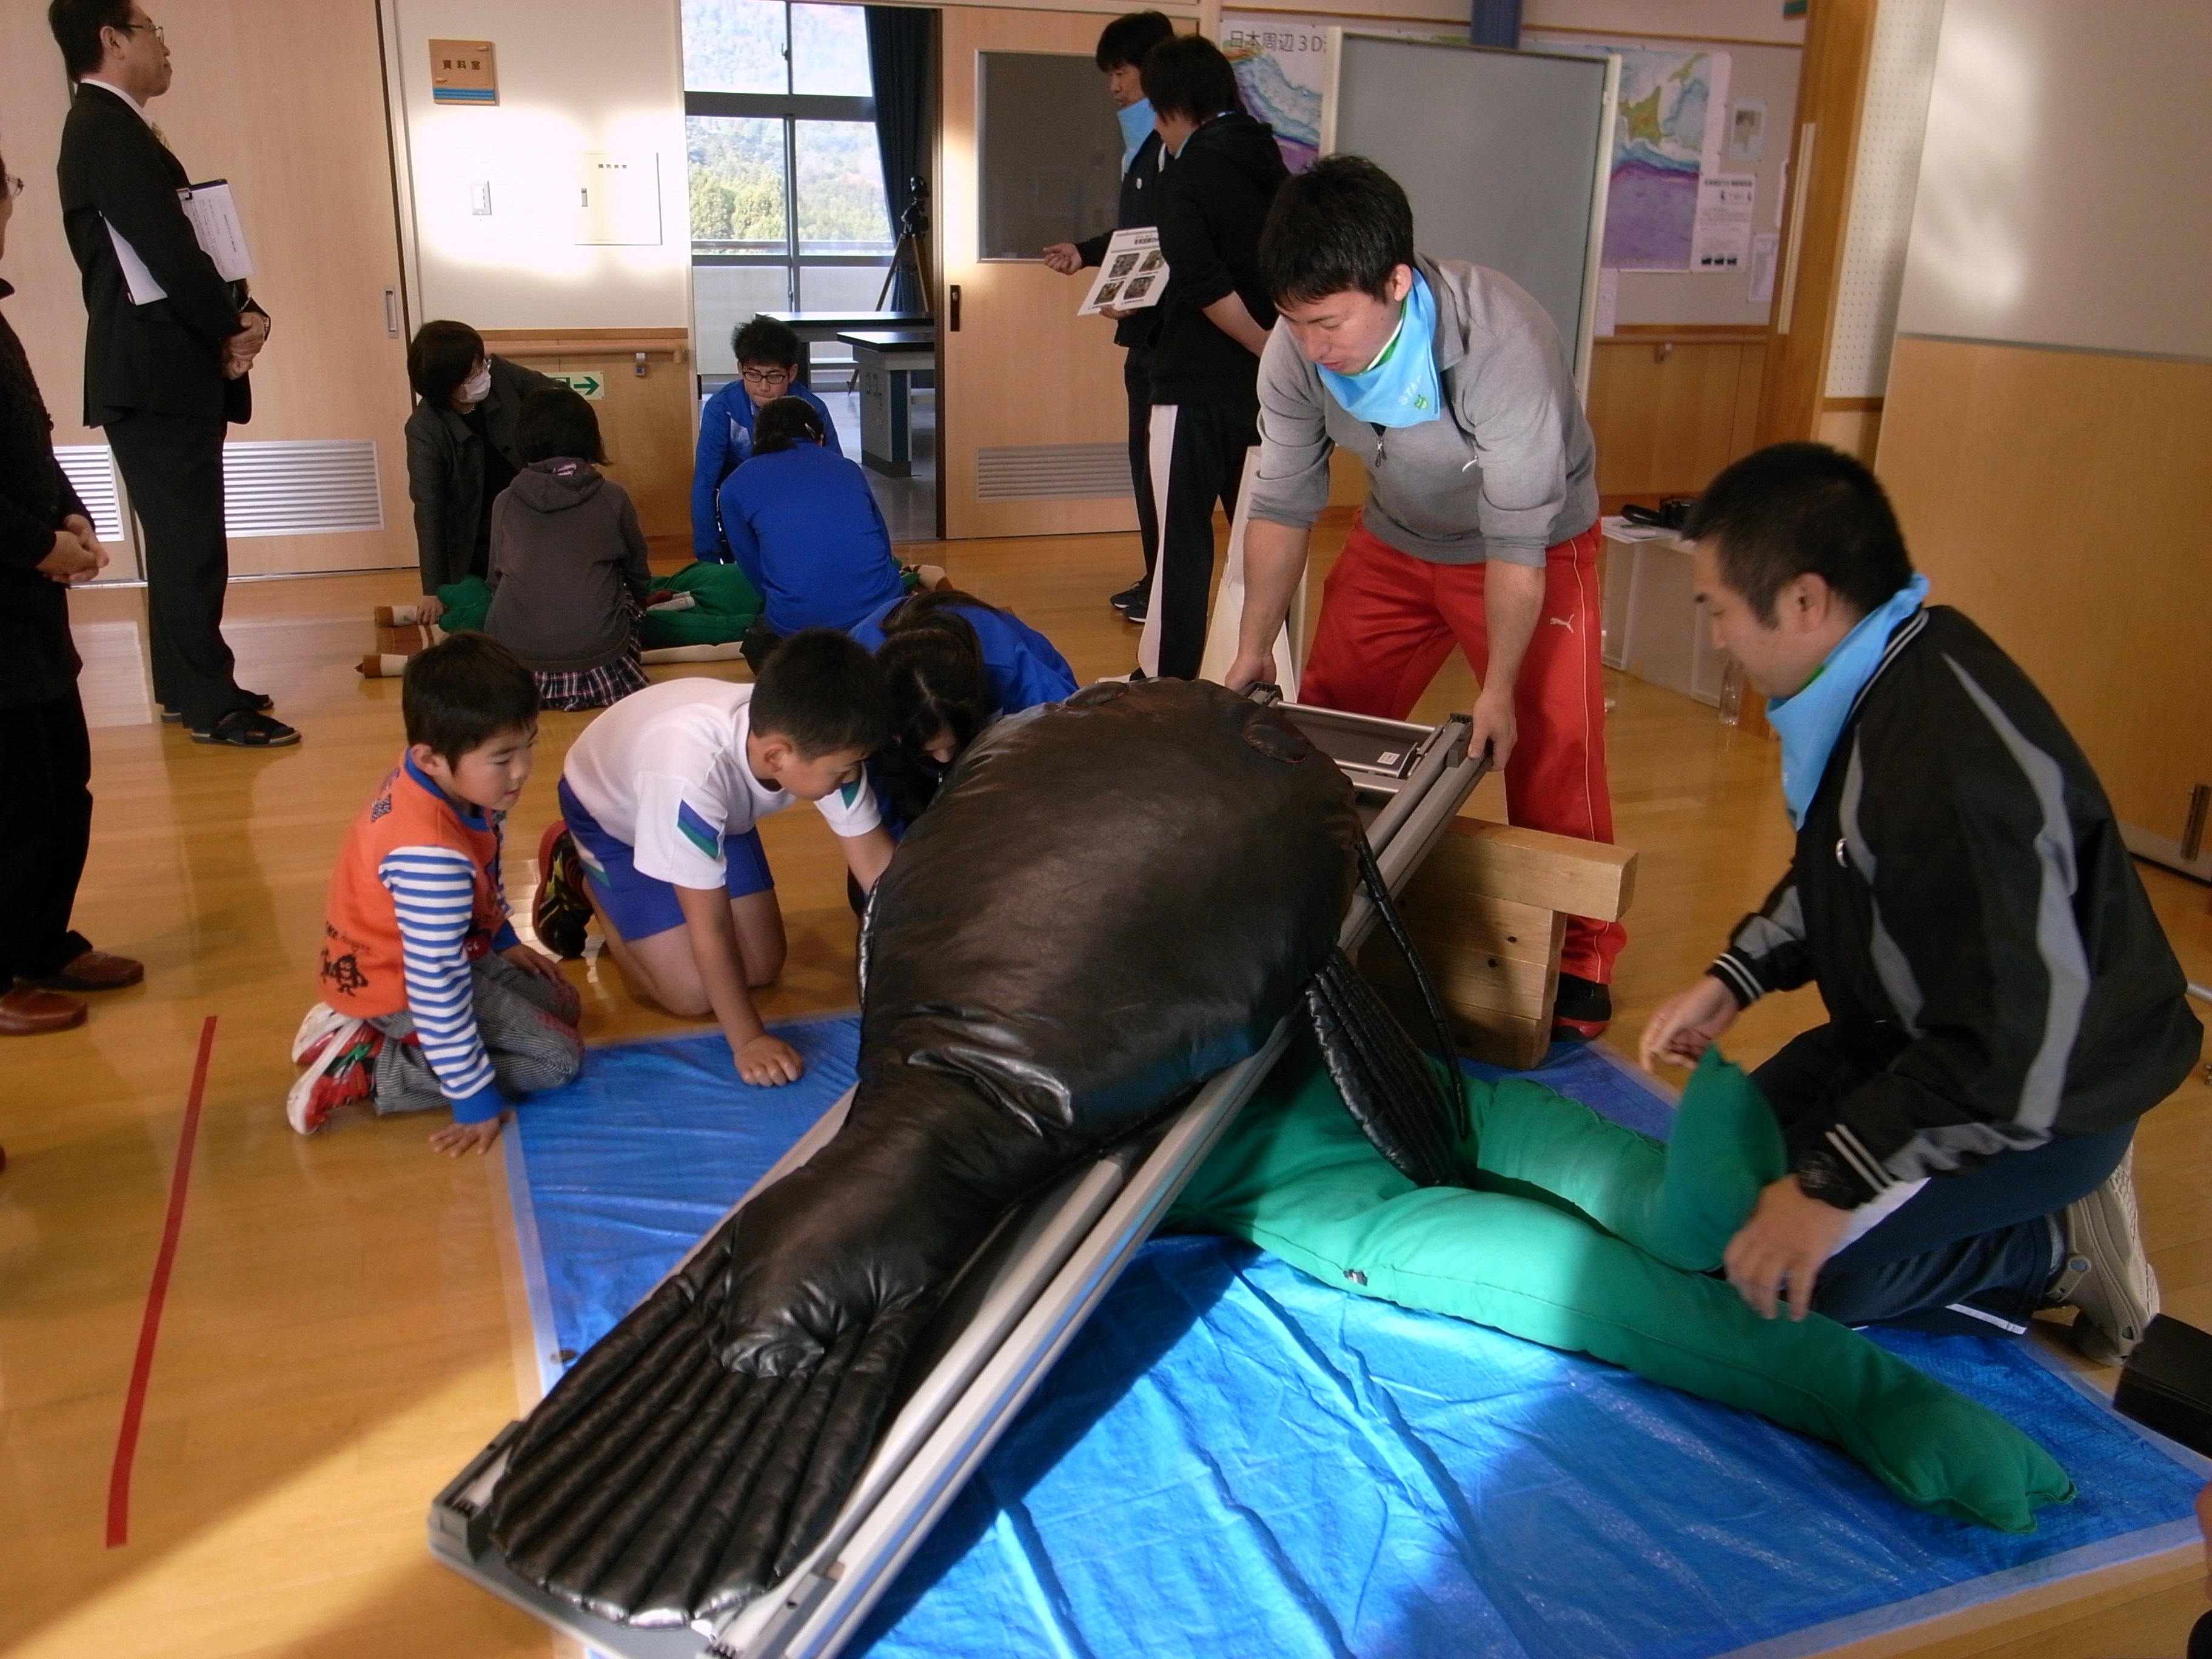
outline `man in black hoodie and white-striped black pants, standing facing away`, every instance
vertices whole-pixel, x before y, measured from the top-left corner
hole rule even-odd
[[[1243,111],[1237,71],[1203,35],[1144,55],[1144,95],[1168,159],[1159,168],[1159,252],[1168,292],[1152,341],[1152,498],[1159,571],[1144,670],[1194,679],[1206,657],[1214,502],[1237,515],[1245,451],[1259,442],[1259,354],[1274,301],[1259,232],[1290,177],[1274,131]]]

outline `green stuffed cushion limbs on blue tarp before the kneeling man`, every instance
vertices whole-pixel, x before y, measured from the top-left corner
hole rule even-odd
[[[1579,1192],[1557,1194],[1586,1212],[1573,1214],[1513,1192],[1416,1188],[1367,1144],[1327,1073],[1294,1055],[1183,1190],[1175,1223],[1250,1239],[1363,1296],[1590,1354],[1756,1411],[1843,1447],[1920,1509],[2033,1531],[2035,1509],[2070,1498],[2073,1482],[2011,1422],[1858,1332],[1820,1316],[1759,1318],[1723,1281],[1672,1267],[1590,1223],[1610,1212],[1690,1248],[1717,1230],[1712,1206],[1732,1201],[1743,1183],[1756,1192],[1750,1155],[1759,1135],[1747,1110],[1756,1091],[1745,1102],[1750,1082],[1728,1073],[1734,1068],[1723,1071],[1723,1062],[1710,1075],[1701,1066],[1708,1082],[1699,1093],[1714,1099],[1697,1133],[1710,1128],[1741,1168],[1728,1181],[1683,1188],[1683,1197],[1666,1192],[1670,1159],[1657,1141],[1526,1079],[1471,1082],[1475,1133],[1493,1135],[1495,1161],[1509,1166],[1491,1168],[1484,1152],[1484,1175],[1528,1186],[1537,1186],[1531,1172],[1557,1177]],[[1568,1170],[1575,1159],[1595,1168]]]

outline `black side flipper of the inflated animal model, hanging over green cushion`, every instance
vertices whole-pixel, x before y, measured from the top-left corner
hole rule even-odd
[[[1329,951],[1305,989],[1305,1009],[1329,1082],[1374,1148],[1409,1181],[1464,1186],[1453,1150],[1467,1135],[1464,1102],[1343,951]]]

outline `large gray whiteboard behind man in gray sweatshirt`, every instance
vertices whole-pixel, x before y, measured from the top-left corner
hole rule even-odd
[[[1590,380],[1613,159],[1613,58],[1329,31],[1323,153],[1365,155],[1413,201],[1431,259],[1511,276]]]

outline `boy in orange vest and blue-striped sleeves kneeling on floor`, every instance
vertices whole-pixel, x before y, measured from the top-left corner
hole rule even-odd
[[[584,1064],[582,1002],[515,938],[500,825],[538,743],[538,684],[498,639],[458,633],[407,664],[407,752],[345,832],[323,922],[323,1002],[292,1040],[285,1113],[314,1135],[338,1106],[451,1104],[429,1137],[484,1152],[509,1099]]]

